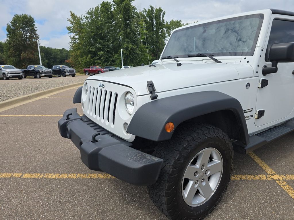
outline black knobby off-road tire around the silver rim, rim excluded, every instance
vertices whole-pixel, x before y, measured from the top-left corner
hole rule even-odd
[[[184,172],[197,153],[212,146],[223,158],[220,182],[206,202],[196,207],[189,206],[182,196]],[[230,181],[234,157],[230,138],[222,130],[209,124],[182,123],[171,140],[156,145],[153,155],[164,162],[158,180],[147,188],[153,203],[169,219],[203,219],[220,202]]]

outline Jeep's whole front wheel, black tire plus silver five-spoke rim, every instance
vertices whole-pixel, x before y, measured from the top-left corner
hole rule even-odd
[[[233,169],[233,147],[219,128],[182,123],[153,155],[164,161],[148,192],[168,218],[203,219],[220,202]]]

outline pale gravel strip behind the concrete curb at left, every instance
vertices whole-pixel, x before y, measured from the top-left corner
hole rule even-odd
[[[0,102],[16,97],[28,95],[34,92],[40,92],[46,89],[52,89],[59,86],[84,82],[86,76],[76,77],[53,77],[49,78],[26,78],[12,79],[8,81],[1,80],[0,83]]]

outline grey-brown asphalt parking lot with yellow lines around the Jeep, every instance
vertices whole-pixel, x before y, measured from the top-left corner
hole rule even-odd
[[[146,187],[88,170],[57,121],[75,89],[0,112],[0,219],[166,219]],[[232,180],[206,219],[294,219],[294,133],[235,153]]]

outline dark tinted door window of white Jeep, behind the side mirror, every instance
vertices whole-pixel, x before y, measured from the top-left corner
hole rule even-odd
[[[265,61],[268,60],[271,45],[275,43],[291,43],[294,42],[294,21],[273,20],[268,39],[268,47],[265,52]]]

